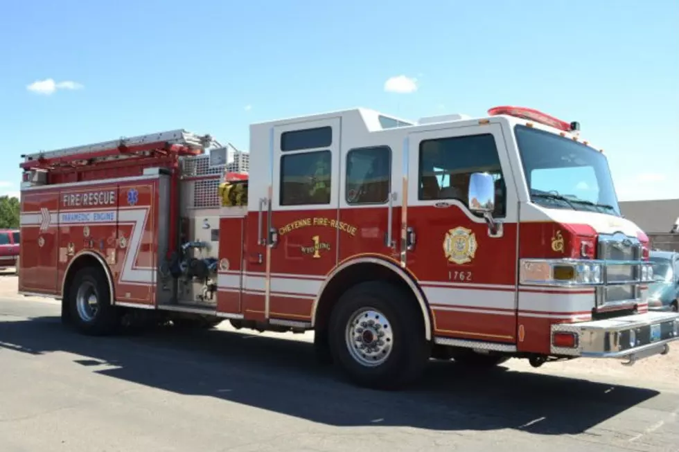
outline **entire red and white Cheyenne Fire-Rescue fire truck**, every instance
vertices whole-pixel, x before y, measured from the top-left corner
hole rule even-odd
[[[19,292],[85,334],[312,330],[373,388],[430,358],[634,363],[679,338],[578,123],[350,109],[249,132],[249,152],[175,130],[22,156]]]

